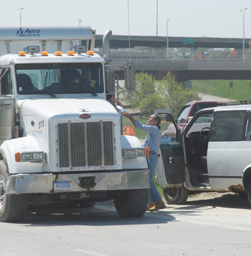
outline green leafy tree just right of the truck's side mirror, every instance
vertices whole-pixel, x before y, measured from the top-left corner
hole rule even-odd
[[[148,95],[154,95],[156,80],[152,75],[148,73],[137,73],[135,76],[136,89],[133,92],[133,96],[128,100],[131,108],[140,108],[140,114],[143,114],[143,109],[140,103]]]

